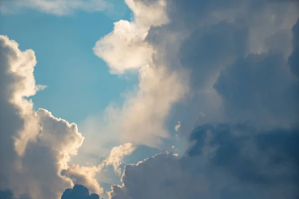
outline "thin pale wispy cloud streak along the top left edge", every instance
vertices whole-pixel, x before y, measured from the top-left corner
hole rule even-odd
[[[68,15],[77,10],[88,12],[112,11],[113,4],[106,0],[3,0],[0,12],[14,13],[20,9],[34,9],[55,15]]]

